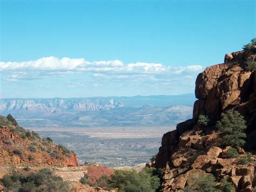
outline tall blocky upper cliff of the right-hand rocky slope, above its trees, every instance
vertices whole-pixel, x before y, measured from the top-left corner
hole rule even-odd
[[[218,120],[221,112],[231,108],[244,115],[248,123],[255,118],[256,75],[255,71],[245,70],[246,62],[255,58],[256,54],[246,51],[226,54],[226,63],[207,67],[200,73],[196,80],[198,100],[194,103],[193,118],[204,114]]]

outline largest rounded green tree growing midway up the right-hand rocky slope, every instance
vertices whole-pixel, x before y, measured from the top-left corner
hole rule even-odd
[[[221,138],[226,146],[240,147],[245,144],[245,120],[238,111],[227,111],[221,114],[216,127],[221,131]]]

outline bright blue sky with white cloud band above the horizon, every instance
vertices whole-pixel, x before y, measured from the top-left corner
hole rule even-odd
[[[255,37],[255,1],[0,0],[0,97],[193,93]]]

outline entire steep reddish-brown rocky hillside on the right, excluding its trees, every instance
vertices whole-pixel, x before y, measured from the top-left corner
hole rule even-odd
[[[255,45],[254,45],[255,46]],[[254,47],[255,48],[255,47]],[[153,166],[163,168],[163,191],[193,188],[194,180],[213,175],[216,188],[221,181],[231,182],[236,191],[253,191],[256,187],[256,74],[248,69],[256,54],[239,51],[226,54],[225,63],[207,67],[196,80],[193,119],[177,125],[177,129],[164,134]],[[232,148],[223,144],[221,133],[215,128],[221,113],[238,111],[246,120],[245,146],[252,154],[237,147],[238,155],[227,155]],[[198,116],[210,118],[208,126],[198,124]],[[251,140],[250,140],[251,139]],[[254,155],[253,155],[254,154]],[[223,180],[224,179],[224,180]]]

